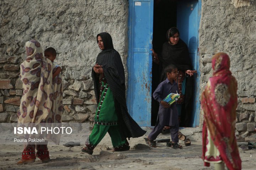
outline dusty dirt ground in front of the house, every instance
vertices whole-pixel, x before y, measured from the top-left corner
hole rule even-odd
[[[151,131],[147,130],[146,135]],[[71,170],[100,170],[100,169],[136,169],[136,170],[208,170],[214,169],[203,166],[201,159],[201,129],[185,128],[181,132],[191,139],[191,146],[185,147],[183,141],[180,144],[183,149],[166,147],[166,143],[157,143],[157,148],[149,148],[145,145],[143,137],[131,138],[130,151],[111,152],[112,144],[110,136],[106,135],[95,148],[93,155],[81,152],[81,146],[65,147],[63,145],[48,145],[50,162],[36,162],[26,165],[16,165],[21,158],[22,145],[0,145],[0,170],[28,170],[28,169],[71,169]],[[159,135],[158,139],[169,138],[170,134]],[[73,140],[76,142],[76,140]],[[242,169],[252,170],[256,167],[256,149],[247,150],[247,142],[238,142]]]

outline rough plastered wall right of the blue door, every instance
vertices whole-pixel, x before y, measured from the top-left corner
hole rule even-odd
[[[212,75],[211,57],[228,53],[238,81],[236,133],[253,135],[256,125],[256,3],[235,8],[230,0],[203,0],[199,28],[201,92]],[[253,136],[252,136],[253,135]]]

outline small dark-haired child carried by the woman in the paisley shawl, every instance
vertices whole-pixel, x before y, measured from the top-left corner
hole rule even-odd
[[[44,56],[48,58],[53,63],[53,80],[59,73],[61,72],[61,68],[57,63],[54,62],[56,58],[57,52],[53,47],[49,47],[46,50],[44,50]]]

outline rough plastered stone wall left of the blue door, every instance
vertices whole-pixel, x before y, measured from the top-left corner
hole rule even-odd
[[[112,35],[126,66],[128,1],[0,0],[0,13],[0,122],[17,121],[22,94],[19,65],[31,39],[43,50],[57,50],[56,62],[63,70],[63,121],[93,121],[91,69],[100,52],[96,35]]]

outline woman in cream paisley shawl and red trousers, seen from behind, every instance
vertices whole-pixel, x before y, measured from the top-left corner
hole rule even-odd
[[[60,107],[59,103],[62,104],[62,88],[59,87],[58,94],[54,93],[56,91],[53,90],[55,85],[52,83],[52,62],[43,56],[42,47],[36,40],[26,42],[26,53],[27,58],[20,65],[23,94],[17,113],[18,123],[21,126],[33,127],[40,126],[40,123],[60,123],[62,106]],[[59,101],[56,104],[59,107],[57,112],[56,106],[53,106],[53,98]],[[55,112],[52,109],[55,109]],[[36,155],[42,162],[48,162],[50,158],[47,142],[44,144],[46,145],[27,143],[22,152],[22,159],[17,164],[33,163]]]

